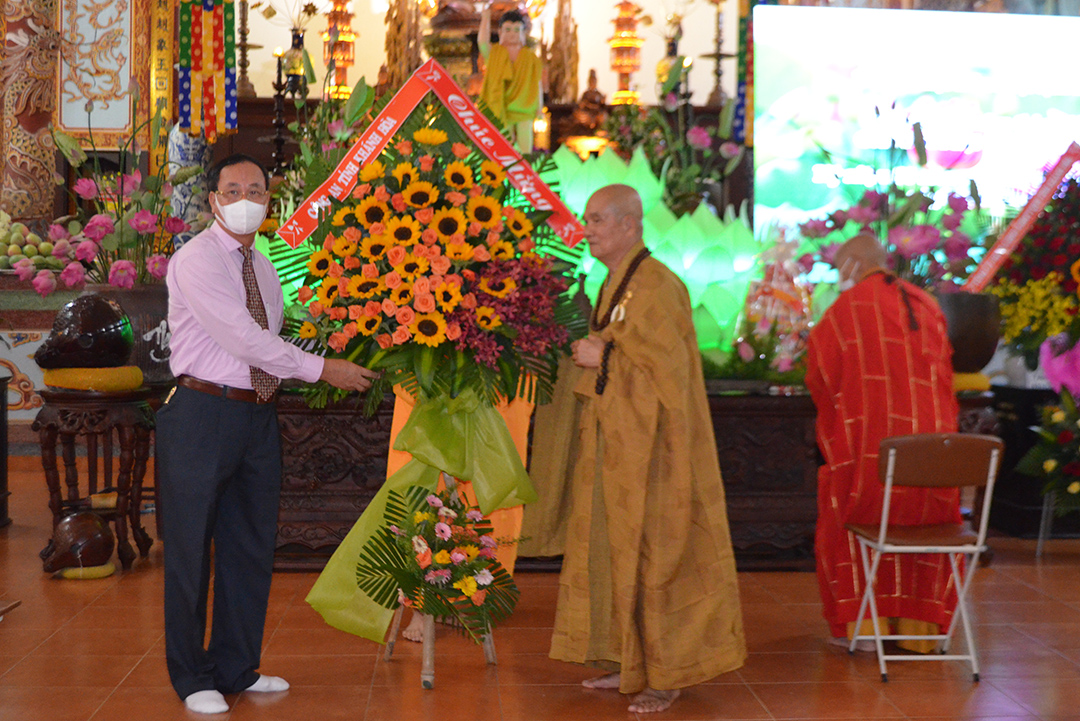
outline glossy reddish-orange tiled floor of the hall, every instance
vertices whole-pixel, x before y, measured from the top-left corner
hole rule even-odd
[[[185,711],[165,674],[161,548],[126,573],[55,581],[38,550],[49,536],[36,461],[11,459],[11,515],[0,530],[0,720],[158,721]],[[152,518],[151,518],[152,520]],[[152,528],[152,523],[150,523]],[[983,680],[957,663],[892,664],[882,684],[873,655],[823,643],[811,573],[740,574],[751,655],[745,667],[687,691],[664,720],[1080,718],[1080,542],[1055,541],[1041,563],[1034,542],[995,539],[974,596]],[[278,574],[264,669],[283,694],[230,697],[228,718],[261,721],[561,721],[627,719],[618,693],[586,691],[593,671],[546,657],[556,577],[518,574],[522,601],[496,631],[498,666],[441,628],[433,691],[419,683],[420,650],[381,648],[328,626],[303,602],[313,574]]]

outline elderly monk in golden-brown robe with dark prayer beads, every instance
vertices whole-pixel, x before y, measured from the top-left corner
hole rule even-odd
[[[662,711],[746,658],[734,555],[701,356],[683,283],[642,242],[629,186],[590,199],[585,237],[608,277],[584,370],[572,509],[551,657],[609,671],[591,689]]]

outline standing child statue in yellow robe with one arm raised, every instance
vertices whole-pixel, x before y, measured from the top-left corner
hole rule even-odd
[[[480,97],[499,121],[511,128],[511,139],[523,153],[532,152],[532,121],[543,106],[543,63],[525,45],[525,16],[516,10],[499,21],[499,43],[491,44],[491,6],[480,18],[476,44],[484,56],[484,85]]]

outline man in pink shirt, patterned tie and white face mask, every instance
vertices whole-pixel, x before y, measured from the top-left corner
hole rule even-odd
[[[298,378],[365,391],[375,373],[278,335],[281,284],[252,247],[270,201],[266,171],[231,155],[207,180],[215,222],[168,264],[177,385],[158,411],[157,462],[168,675],[188,709],[222,713],[222,694],[288,689],[257,671],[281,491],[278,384]],[[204,648],[211,542],[214,624]]]

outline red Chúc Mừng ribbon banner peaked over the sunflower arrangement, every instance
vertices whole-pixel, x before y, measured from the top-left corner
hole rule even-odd
[[[501,165],[510,183],[538,210],[551,210],[548,223],[568,246],[573,247],[584,236],[577,217],[558,195],[540,179],[510,141],[469,99],[437,62],[430,59],[413,73],[382,112],[367,127],[326,181],[308,196],[289,217],[278,234],[296,247],[319,227],[319,214],[329,206],[330,198],[343,201],[356,185],[360,168],[378,158],[382,149],[401,128],[409,113],[429,92],[446,106],[450,115],[473,142],[491,161]]]

